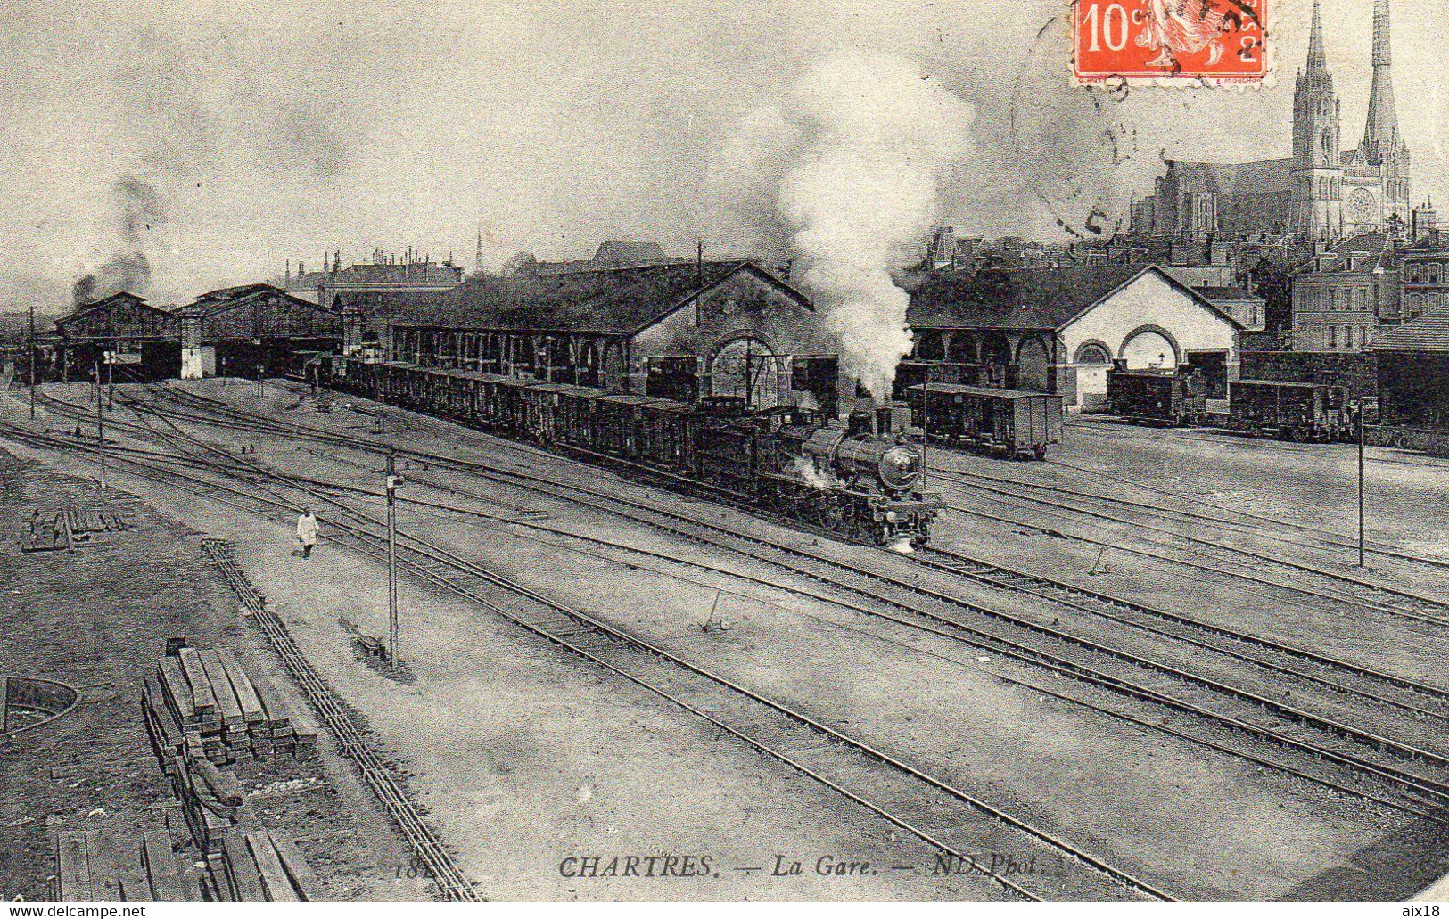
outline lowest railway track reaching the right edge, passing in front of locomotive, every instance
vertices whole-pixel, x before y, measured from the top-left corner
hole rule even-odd
[[[201,420],[207,420],[207,419],[201,419]],[[296,432],[293,432],[293,433],[296,433]],[[348,441],[351,441],[351,439],[348,439]],[[372,442],[356,444],[355,441],[351,441],[349,445],[358,446],[358,448],[364,448],[364,449],[369,449],[369,451],[374,451],[374,452],[380,449],[380,446],[377,444],[372,444]],[[582,494],[582,496],[585,496],[588,499],[588,502],[593,502],[593,506],[596,506],[598,509],[603,509],[603,510],[607,510],[607,512],[611,512],[611,513],[616,513],[616,515],[620,515],[620,516],[626,516],[629,519],[635,519],[635,520],[640,519],[640,512],[646,512],[646,513],[651,513],[651,515],[664,515],[665,517],[672,517],[672,520],[667,522],[665,526],[669,528],[669,529],[672,529],[672,532],[677,532],[677,533],[681,532],[680,526],[678,526],[681,522],[687,523],[688,526],[693,526],[693,528],[704,528],[704,532],[700,532],[698,529],[696,529],[696,532],[684,532],[684,533],[681,533],[681,535],[685,535],[688,538],[694,538],[697,541],[707,541],[707,542],[713,542],[716,545],[722,545],[720,536],[727,536],[727,538],[733,538],[733,539],[746,539],[746,542],[749,539],[752,539],[752,538],[742,538],[739,533],[732,533],[732,532],[729,532],[729,531],[726,531],[723,528],[719,528],[719,526],[716,526],[713,523],[700,522],[700,520],[696,520],[696,519],[688,517],[685,515],[678,515],[675,512],[668,512],[668,510],[656,507],[653,504],[645,504],[645,503],[640,503],[640,502],[636,502],[636,500],[622,499],[619,496],[601,493],[598,490],[584,488],[584,487],[580,487],[580,486],[561,486],[556,481],[543,480],[543,478],[540,478],[538,475],[527,475],[527,474],[520,474],[520,473],[514,473],[514,471],[504,471],[504,470],[498,470],[498,468],[487,468],[487,470],[471,468],[471,467],[475,467],[477,464],[471,464],[468,461],[461,461],[461,460],[456,460],[456,458],[436,457],[436,455],[429,455],[429,454],[422,454],[422,455],[426,455],[430,461],[438,462],[438,464],[445,465],[445,467],[448,464],[454,464],[454,465],[461,464],[464,468],[467,468],[469,471],[474,471],[477,474],[483,474],[484,477],[491,477],[494,480],[514,481],[516,478],[523,477],[526,480],[530,480],[529,484],[533,488],[538,488],[538,487],[543,486],[545,483],[548,483],[548,484],[551,484],[555,488],[551,493],[555,497],[559,497],[561,500],[571,500],[574,503],[578,503],[580,496]],[[564,491],[558,491],[558,488],[562,488]],[[600,502],[603,502],[604,504],[600,504]],[[614,506],[609,507],[607,506],[609,503],[613,503]],[[672,526],[671,526],[671,523],[672,523]],[[713,531],[713,532],[710,532],[710,531]],[[753,539],[753,542],[756,544],[756,546],[768,544],[768,541],[761,541],[761,539]],[[740,549],[739,545],[729,546],[729,548],[735,548],[736,551]],[[800,558],[814,558],[809,552],[803,552],[800,549],[793,549],[790,546],[782,546],[782,545],[778,545],[778,544],[772,544],[772,545],[769,545],[769,548],[771,549],[777,549],[777,551],[782,551],[787,555],[788,554],[794,554],[796,557],[800,557]],[[752,557],[759,558],[761,561],[767,561],[769,564],[775,564],[775,565],[781,564],[780,558],[762,557],[758,551],[751,551],[749,548],[745,548],[742,554],[752,555]],[[801,565],[798,564],[798,558],[797,558],[796,564],[785,564],[784,567],[787,570],[794,571],[796,574],[803,574],[806,577],[811,577],[814,580],[820,580],[820,581],[833,584],[836,587],[842,586],[839,583],[840,581],[839,571],[840,570],[849,570],[849,568],[852,568],[851,565],[842,565],[840,562],[830,561],[830,560],[814,558],[814,561],[817,561],[817,562],[826,562],[827,565],[835,565],[836,570],[833,573],[830,573],[830,571],[822,571],[819,568],[814,568],[814,570],[801,568]],[[874,602],[888,604],[888,606],[900,609],[903,612],[910,612],[910,613],[923,616],[927,620],[933,620],[936,625],[949,626],[951,633],[956,639],[959,639],[959,641],[968,641],[968,644],[975,644],[977,646],[993,649],[997,654],[1003,654],[1004,657],[1013,657],[1013,658],[1022,660],[1022,661],[1033,661],[1033,662],[1036,662],[1039,665],[1055,667],[1055,668],[1058,668],[1059,673],[1072,673],[1078,678],[1085,678],[1088,681],[1094,681],[1098,686],[1111,686],[1111,687],[1117,689],[1119,691],[1124,691],[1127,694],[1132,694],[1132,696],[1143,699],[1143,700],[1151,700],[1151,702],[1155,702],[1155,703],[1159,703],[1159,704],[1165,704],[1165,706],[1174,707],[1177,710],[1182,710],[1182,712],[1188,712],[1188,713],[1193,713],[1193,715],[1198,715],[1198,716],[1203,716],[1203,718],[1207,718],[1207,719],[1216,719],[1220,723],[1232,725],[1232,726],[1235,726],[1235,728],[1237,728],[1240,731],[1245,731],[1245,732],[1248,732],[1248,733],[1250,733],[1250,735],[1253,735],[1253,736],[1256,736],[1259,739],[1265,739],[1265,741],[1282,745],[1282,747],[1288,747],[1291,749],[1295,749],[1295,751],[1300,751],[1300,752],[1304,752],[1304,754],[1308,754],[1308,755],[1313,755],[1313,757],[1323,757],[1323,758],[1326,758],[1329,761],[1333,761],[1336,764],[1340,764],[1343,767],[1353,768],[1353,770],[1358,770],[1358,771],[1365,773],[1365,774],[1377,775],[1377,777],[1379,777],[1382,780],[1387,780],[1387,781],[1391,781],[1394,784],[1398,784],[1401,789],[1406,789],[1406,790],[1408,790],[1408,791],[1411,791],[1414,794],[1423,796],[1433,806],[1439,806],[1445,800],[1445,789],[1443,789],[1443,784],[1437,778],[1432,778],[1432,777],[1421,775],[1421,774],[1416,775],[1413,773],[1407,773],[1404,770],[1392,767],[1391,764],[1384,762],[1382,760],[1379,760],[1377,762],[1368,762],[1368,761],[1365,761],[1364,758],[1361,758],[1358,755],[1352,755],[1352,754],[1346,755],[1345,749],[1342,747],[1339,747],[1339,748],[1326,748],[1321,744],[1310,742],[1310,741],[1304,739],[1303,732],[1300,731],[1300,726],[1301,725],[1307,725],[1307,726],[1311,726],[1314,731],[1321,732],[1321,733],[1333,735],[1336,738],[1346,738],[1346,739],[1350,739],[1350,741],[1353,741],[1356,744],[1366,744],[1366,745],[1369,745],[1372,748],[1377,748],[1377,749],[1384,751],[1384,752],[1391,752],[1391,754],[1394,754],[1397,757],[1401,757],[1401,758],[1406,758],[1406,760],[1420,760],[1420,761],[1433,762],[1436,767],[1442,767],[1443,765],[1443,758],[1439,757],[1437,754],[1430,752],[1430,751],[1424,751],[1421,748],[1416,748],[1416,747],[1407,745],[1407,744],[1400,744],[1400,742],[1391,741],[1390,738],[1384,738],[1384,736],[1379,736],[1379,735],[1374,735],[1374,733],[1356,729],[1352,725],[1346,725],[1346,723],[1330,720],[1330,719],[1323,719],[1323,718],[1319,718],[1319,716],[1316,716],[1313,713],[1303,712],[1300,709],[1294,709],[1293,706],[1284,706],[1284,704],[1278,703],[1274,699],[1268,699],[1268,697],[1264,697],[1264,696],[1253,696],[1252,693],[1243,693],[1240,690],[1236,690],[1235,687],[1223,686],[1223,684],[1220,684],[1220,683],[1217,683],[1217,681],[1214,681],[1211,678],[1204,678],[1204,677],[1201,677],[1201,674],[1194,674],[1194,673],[1182,671],[1182,670],[1174,668],[1174,667],[1165,667],[1165,665],[1162,665],[1159,662],[1153,662],[1153,661],[1149,661],[1149,660],[1145,660],[1145,658],[1140,658],[1140,657],[1136,657],[1136,655],[1132,655],[1132,654],[1123,654],[1122,651],[1117,651],[1114,648],[1106,648],[1106,646],[1095,645],[1095,644],[1088,642],[1088,641],[1082,641],[1080,636],[1065,635],[1065,633],[1062,633],[1062,632],[1059,632],[1056,629],[1049,629],[1049,628],[1045,628],[1045,626],[1042,626],[1039,623],[1030,623],[1030,622],[1024,622],[1024,620],[1020,620],[1020,619],[1013,619],[1010,616],[1003,616],[997,610],[990,610],[990,609],[985,609],[985,607],[980,607],[977,604],[964,603],[959,599],[948,597],[945,594],[940,594],[939,591],[922,591],[919,589],[919,586],[903,583],[900,580],[895,580],[893,584],[890,584],[891,587],[904,589],[906,591],[911,591],[911,593],[916,593],[916,594],[924,593],[926,596],[929,596],[930,600],[936,602],[938,606],[943,604],[943,606],[956,607],[956,609],[962,609],[964,607],[964,609],[968,609],[971,612],[982,613],[982,615],[985,615],[988,617],[995,617],[998,620],[1006,620],[1010,625],[1022,626],[1022,628],[1024,628],[1027,631],[1035,631],[1037,633],[1048,635],[1048,636],[1051,636],[1053,639],[1058,639],[1058,641],[1061,641],[1064,644],[1068,644],[1068,645],[1075,644],[1080,648],[1085,648],[1085,649],[1094,652],[1098,658],[1100,657],[1116,658],[1117,661],[1123,661],[1123,662],[1135,665],[1135,667],[1145,667],[1148,670],[1153,670],[1158,674],[1168,677],[1171,681],[1185,681],[1185,683],[1195,684],[1198,689],[1207,689],[1207,690],[1211,690],[1214,693],[1224,693],[1227,696],[1235,696],[1239,700],[1250,702],[1253,704],[1258,704],[1258,706],[1264,707],[1268,712],[1277,713],[1279,716],[1279,720],[1277,723],[1265,725],[1265,723],[1262,723],[1261,719],[1245,719],[1245,718],[1224,716],[1222,712],[1214,712],[1210,707],[1207,707],[1207,704],[1204,704],[1204,703],[1210,703],[1210,699],[1204,699],[1201,696],[1198,696],[1195,699],[1191,699],[1191,697],[1190,699],[1182,699],[1181,697],[1182,696],[1181,686],[1174,686],[1172,689],[1175,689],[1177,691],[1174,694],[1168,694],[1164,690],[1169,689],[1169,686],[1165,686],[1161,681],[1153,683],[1151,680],[1145,681],[1145,680],[1140,680],[1140,678],[1139,680],[1133,680],[1130,677],[1124,678],[1123,677],[1123,671],[1120,671],[1120,670],[1117,670],[1117,671],[1103,670],[1100,660],[1097,660],[1097,661],[1087,661],[1087,662],[1082,662],[1081,660],[1071,660],[1069,657],[1064,657],[1059,648],[1055,649],[1055,652],[1053,652],[1051,649],[1042,649],[1040,646],[1026,645],[1020,639],[1013,638],[1011,635],[1006,635],[1006,633],[1001,633],[1001,632],[982,631],[981,628],[978,628],[978,626],[975,626],[972,623],[964,622],[959,616],[949,615],[949,613],[948,615],[942,615],[940,609],[922,609],[920,604],[910,603],[910,602],[903,602],[903,599],[898,596],[898,593],[895,596],[890,596],[890,594],[881,593],[881,590],[880,590],[880,581],[882,581],[882,580],[884,581],[890,581],[891,578],[882,578],[878,573],[862,571],[862,570],[859,570],[856,567],[853,570],[853,574],[862,575],[862,577],[865,577],[868,580],[877,581],[877,584],[874,586],[874,589],[871,589],[871,587],[862,587],[861,584],[848,584],[846,587],[849,587],[856,594],[865,596],[865,597],[868,597],[868,599],[871,599]],[[867,610],[867,612],[869,612],[869,610]],[[872,615],[878,616],[880,612],[874,610]],[[1127,673],[1130,674],[1130,671],[1127,671]],[[1366,673],[1361,673],[1361,675],[1366,675]],[[1368,693],[1368,691],[1364,691],[1364,690],[1355,690],[1355,691],[1359,691],[1359,694],[1364,696],[1364,697],[1372,697],[1372,694]],[[1191,696],[1191,693],[1190,693],[1190,696]]]

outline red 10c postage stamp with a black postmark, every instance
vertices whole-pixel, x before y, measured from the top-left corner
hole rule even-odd
[[[1081,84],[1259,83],[1269,0],[1074,0]]]

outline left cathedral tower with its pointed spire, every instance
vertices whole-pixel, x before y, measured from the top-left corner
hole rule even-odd
[[[1388,3],[1388,0],[1379,1],[1385,6]],[[1392,104],[1391,91],[1390,104]],[[1329,72],[1327,55],[1323,49],[1323,23],[1319,16],[1319,3],[1314,0],[1313,26],[1308,36],[1308,67],[1298,74],[1298,81],[1293,88],[1290,229],[1308,239],[1335,239],[1342,226],[1343,164],[1339,152],[1339,94],[1333,90],[1333,75]]]

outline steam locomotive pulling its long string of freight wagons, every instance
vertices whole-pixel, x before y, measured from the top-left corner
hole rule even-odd
[[[352,358],[333,359],[332,386],[897,551],[924,544],[942,507],[919,490],[922,449],[891,431],[888,410],[839,420],[806,406],[756,412],[743,397],[682,403]]]

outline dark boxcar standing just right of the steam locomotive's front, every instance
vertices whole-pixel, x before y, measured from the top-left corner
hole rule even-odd
[[[1049,393],[932,383],[910,387],[913,420],[933,441],[1026,460],[1062,439],[1064,399]]]

